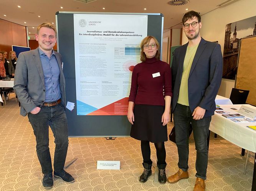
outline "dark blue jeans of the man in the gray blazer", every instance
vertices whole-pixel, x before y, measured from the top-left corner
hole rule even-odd
[[[42,167],[43,174],[53,172],[49,151],[49,126],[55,138],[54,170],[63,169],[68,151],[68,122],[62,103],[48,107],[41,106],[39,113],[28,113],[28,119],[36,136],[36,153]]]

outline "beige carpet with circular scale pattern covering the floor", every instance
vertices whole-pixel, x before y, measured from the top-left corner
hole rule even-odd
[[[35,151],[35,136],[27,117],[19,115],[14,97],[0,106],[0,190],[39,191],[43,175]],[[168,124],[168,132],[173,123]],[[177,172],[177,148],[173,142],[165,142],[167,152],[167,176]],[[154,163],[156,153],[151,144]],[[50,133],[50,151],[53,156],[54,139]],[[243,175],[246,157],[241,148],[218,136],[210,137],[209,163],[206,180],[207,191],[251,190],[254,154],[249,153],[246,174]],[[66,170],[75,182],[68,184],[54,180],[55,191],[188,191],[195,184],[196,151],[193,136],[190,137],[189,176],[178,183],[161,185],[154,182],[153,174],[146,183],[140,183],[142,155],[140,142],[133,138],[69,138],[66,161],[77,160]],[[119,160],[120,170],[97,170],[97,160]]]

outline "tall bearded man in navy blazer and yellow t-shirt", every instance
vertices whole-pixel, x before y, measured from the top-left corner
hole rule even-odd
[[[220,45],[201,38],[201,16],[185,13],[183,30],[188,43],[175,49],[172,62],[172,110],[178,147],[178,172],[168,178],[174,183],[188,178],[188,138],[192,124],[196,159],[194,191],[205,190],[208,165],[207,137],[211,115],[216,109],[215,97],[221,84],[223,57]]]

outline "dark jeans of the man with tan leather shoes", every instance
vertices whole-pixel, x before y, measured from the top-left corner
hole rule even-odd
[[[196,176],[206,180],[208,165],[207,137],[209,134],[211,116],[204,117],[200,120],[193,120],[190,108],[185,105],[177,104],[173,112],[173,120],[179,156],[178,167],[183,171],[188,170],[188,138],[191,123],[197,150]]]

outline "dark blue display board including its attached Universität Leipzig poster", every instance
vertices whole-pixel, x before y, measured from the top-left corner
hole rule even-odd
[[[131,75],[140,63],[140,42],[154,36],[162,47],[160,13],[58,12],[69,136],[129,136]]]

